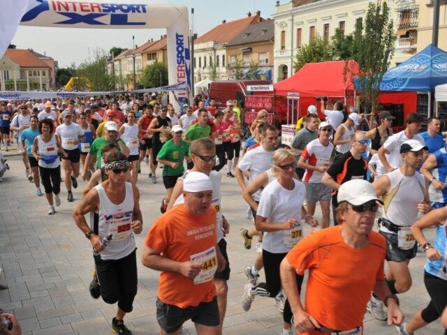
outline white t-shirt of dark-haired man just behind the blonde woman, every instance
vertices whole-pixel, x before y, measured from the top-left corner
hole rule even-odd
[[[272,168],[272,151],[266,151],[262,144],[255,149],[247,151],[244,157],[237,164],[242,172],[250,170],[249,182],[253,181],[258,174],[267,171]],[[261,190],[254,193],[253,198],[255,201],[259,201],[261,196]]]

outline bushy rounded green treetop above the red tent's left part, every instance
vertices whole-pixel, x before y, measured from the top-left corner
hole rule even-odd
[[[300,70],[306,63],[318,63],[319,61],[332,61],[334,50],[329,40],[321,38],[316,34],[309,44],[302,45],[295,57],[293,67],[295,72]]]

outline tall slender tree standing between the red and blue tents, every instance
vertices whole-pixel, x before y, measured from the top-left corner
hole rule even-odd
[[[374,112],[380,83],[394,54],[396,36],[386,1],[369,3],[365,19],[365,27],[358,21],[353,34],[352,52],[358,63],[358,73],[354,73],[353,68],[346,70],[351,72],[351,77],[358,78],[363,110]]]

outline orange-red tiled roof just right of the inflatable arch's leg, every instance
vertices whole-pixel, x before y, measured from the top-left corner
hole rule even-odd
[[[197,38],[194,41],[194,44],[209,42],[211,40],[218,44],[228,43],[230,40],[235,38],[237,34],[240,34],[241,31],[247,28],[249,24],[259,22],[261,20],[263,20],[262,17],[253,15],[235,21],[221,23],[219,24],[219,26],[214,27],[210,31],[207,31],[205,34]]]

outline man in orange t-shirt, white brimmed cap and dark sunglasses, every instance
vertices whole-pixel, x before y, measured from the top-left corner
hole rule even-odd
[[[307,235],[281,262],[295,329],[301,335],[364,334],[362,321],[371,291],[388,305],[388,325],[400,325],[404,315],[383,274],[386,241],[372,231],[381,200],[365,180],[346,181],[337,200],[339,225]],[[307,269],[303,306],[295,274]]]

